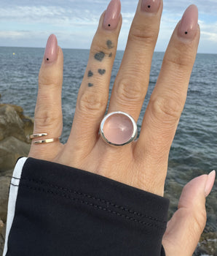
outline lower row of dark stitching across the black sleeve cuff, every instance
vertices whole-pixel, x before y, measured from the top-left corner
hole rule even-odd
[[[102,206],[98,206],[98,205],[96,205],[96,204],[94,204],[94,203],[90,203],[90,202],[87,202],[87,201],[84,201],[84,200],[81,200],[81,199],[78,199],[78,198],[75,198],[75,197],[70,197],[70,196],[65,195],[65,194],[60,194],[60,193],[58,193],[58,192],[52,192],[52,191],[50,191],[50,190],[45,190],[45,189],[42,189],[42,188],[29,187],[29,186],[27,186],[27,185],[25,185],[25,184],[22,184],[22,187],[27,187],[28,189],[33,189],[33,190],[35,190],[35,191],[45,192],[45,193],[49,193],[49,194],[52,194],[52,195],[59,195],[59,196],[61,196],[61,197],[66,197],[66,198],[71,199],[71,200],[74,200],[74,201],[76,201],[76,202],[78,202],[78,203],[83,203],[83,204],[86,204],[87,206],[92,206],[92,207],[94,207],[94,208],[98,208],[98,209],[103,210],[103,211],[108,211],[108,212],[111,213],[111,214],[116,214],[117,216],[123,217],[123,218],[125,218],[125,219],[129,219],[130,221],[138,222],[138,223],[143,224],[143,225],[147,225],[147,226],[150,226],[150,227],[156,227],[156,228],[159,228],[159,229],[161,229],[161,230],[165,230],[164,227],[160,227],[159,225],[154,225],[154,224],[151,224],[151,223],[148,223],[148,222],[143,222],[143,221],[141,221],[141,220],[139,220],[139,219],[135,219],[135,218],[133,218],[133,217],[129,217],[129,216],[125,215],[125,214],[120,214],[120,213],[117,212],[117,211],[112,211],[112,210],[109,209],[109,208],[105,208],[105,207],[102,207]]]

